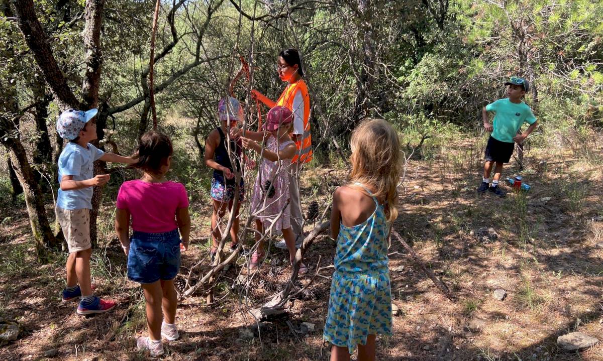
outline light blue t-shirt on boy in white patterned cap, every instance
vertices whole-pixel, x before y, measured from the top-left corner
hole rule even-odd
[[[63,175],[72,175],[73,180],[87,180],[94,177],[92,163],[105,152],[87,143],[88,149],[74,142],[65,146],[58,157],[58,183]],[[92,187],[78,190],[58,189],[57,207],[62,209],[92,209]]]

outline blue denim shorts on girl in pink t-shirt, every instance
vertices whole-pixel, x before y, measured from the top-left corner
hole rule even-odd
[[[130,237],[128,278],[138,283],[171,280],[180,269],[178,229],[165,233],[134,231]]]

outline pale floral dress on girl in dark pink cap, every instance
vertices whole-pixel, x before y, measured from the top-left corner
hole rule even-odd
[[[289,144],[295,144],[292,140],[277,145],[275,137],[268,139],[266,149],[273,152],[282,151]],[[278,148],[277,148],[278,147]],[[281,231],[291,227],[291,207],[289,206],[289,168],[291,159],[282,159],[279,162],[271,162],[262,159],[257,171],[256,184],[253,187],[253,198],[251,199],[252,212],[259,213],[259,219],[267,229],[283,211],[283,215],[276,220],[273,230]],[[286,204],[286,206],[285,206]]]

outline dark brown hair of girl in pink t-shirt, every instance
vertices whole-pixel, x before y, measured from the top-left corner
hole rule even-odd
[[[147,131],[142,134],[138,146],[134,149],[132,157],[138,158],[138,162],[132,166],[146,172],[157,173],[173,152],[172,141],[168,136],[158,131]]]

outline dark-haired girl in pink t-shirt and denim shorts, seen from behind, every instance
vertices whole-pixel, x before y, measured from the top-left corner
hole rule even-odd
[[[133,166],[144,173],[121,185],[116,204],[115,231],[128,257],[128,278],[140,283],[147,301],[149,336],[138,337],[136,345],[150,350],[151,356],[163,354],[162,336],[169,341],[178,338],[174,277],[191,231],[186,189],[165,178],[172,152],[165,134],[143,134]],[[128,239],[130,218],[133,233]]]

